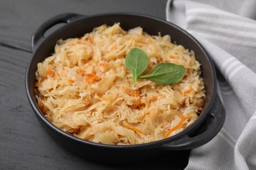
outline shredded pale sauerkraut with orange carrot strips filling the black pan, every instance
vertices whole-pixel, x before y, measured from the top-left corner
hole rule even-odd
[[[186,68],[184,78],[171,85],[138,79],[134,86],[125,56],[135,47],[148,55],[145,73],[169,62]],[[142,144],[171,137],[195,122],[205,101],[194,52],[142,27],[100,25],[59,40],[46,57],[35,73],[39,108],[54,126],[87,141]]]

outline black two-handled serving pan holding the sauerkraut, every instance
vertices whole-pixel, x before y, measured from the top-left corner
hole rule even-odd
[[[91,32],[94,27],[102,24],[113,25],[116,22],[119,22],[125,30],[140,26],[150,35],[158,35],[158,33],[170,35],[171,41],[182,44],[185,48],[195,52],[196,59],[202,64],[206,100],[198,120],[181,133],[146,144],[116,146],[92,143],[61,131],[51,124],[39,109],[35,97],[35,71],[37,70],[37,63],[43,61],[54,52],[56,41],[81,37],[85,33]],[[49,28],[60,23],[65,25],[62,25],[50,35],[45,35]],[[190,150],[208,143],[223,126],[225,110],[217,95],[217,80],[213,62],[202,45],[177,25],[143,14],[110,13],[95,16],[83,16],[73,13],[60,14],[42,24],[33,33],[32,51],[32,58],[26,71],[26,93],[33,112],[54,141],[85,158],[104,162],[124,162],[145,160],[152,156],[159,156],[163,152],[167,152],[171,156],[172,153]]]

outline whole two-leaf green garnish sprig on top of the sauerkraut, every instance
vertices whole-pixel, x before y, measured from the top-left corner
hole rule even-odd
[[[158,84],[164,85],[175,84],[182,80],[186,71],[183,65],[158,63],[150,73],[140,75],[148,67],[148,56],[139,48],[133,48],[133,50],[127,54],[125,65],[133,74],[135,86],[137,85],[137,78],[148,78]]]

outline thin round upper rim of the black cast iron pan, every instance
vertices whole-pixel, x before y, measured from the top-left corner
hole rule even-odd
[[[163,22],[164,24],[170,25],[171,27],[175,27],[175,29],[178,29],[179,31],[181,31],[183,34],[185,34],[186,36],[188,36],[190,39],[192,39],[192,41],[194,41],[202,50],[202,52],[204,53],[204,57],[207,59],[207,61],[209,62],[209,64],[211,65],[211,73],[213,73],[213,95],[211,96],[211,99],[209,101],[209,106],[203,110],[204,114],[202,114],[201,116],[199,116],[198,120],[196,120],[196,122],[194,122],[192,125],[190,125],[189,127],[187,127],[186,129],[184,129],[183,131],[181,131],[180,133],[177,133],[176,135],[173,135],[172,137],[167,137],[166,139],[161,139],[160,141],[154,141],[151,143],[144,143],[144,144],[131,144],[131,145],[114,145],[114,144],[100,144],[100,143],[94,143],[91,141],[85,141],[83,139],[79,139],[78,137],[75,137],[74,135],[70,135],[64,131],[62,131],[61,129],[58,129],[58,127],[54,126],[41,112],[41,110],[39,110],[37,103],[33,102],[33,97],[32,97],[32,93],[30,91],[30,86],[29,86],[29,82],[30,82],[30,70],[32,68],[34,63],[34,59],[35,59],[35,54],[37,54],[37,52],[40,49],[40,46],[43,46],[44,43],[46,43],[49,39],[52,39],[54,37],[54,35],[64,29],[66,29],[67,27],[72,27],[73,24],[77,23],[77,22],[81,22],[83,20],[86,20],[87,18],[98,18],[98,17],[106,17],[106,16],[139,16],[142,18],[149,18],[151,20],[157,20],[158,22]],[[215,74],[215,68],[213,65],[213,61],[211,60],[211,58],[209,58],[209,55],[207,54],[206,50],[203,48],[202,44],[200,44],[200,42],[198,42],[192,35],[190,35],[190,33],[188,33],[187,31],[184,31],[184,29],[182,29],[181,27],[172,24],[170,22],[167,22],[165,20],[162,20],[160,18],[157,18],[155,16],[150,16],[150,15],[146,15],[146,14],[139,14],[139,13],[133,13],[133,12],[108,12],[108,13],[104,13],[104,14],[96,14],[96,15],[92,15],[92,16],[85,16],[85,15],[80,15],[80,17],[75,20],[74,22],[68,23],[67,25],[64,25],[63,27],[60,27],[59,29],[57,29],[56,31],[54,31],[53,33],[51,33],[50,35],[48,35],[47,37],[45,37],[45,39],[43,39],[43,41],[39,42],[37,44],[37,46],[34,47],[35,50],[33,50],[32,52],[32,58],[30,59],[30,62],[28,63],[28,68],[26,71],[26,93],[28,95],[28,99],[30,102],[30,105],[32,106],[32,109],[34,110],[34,113],[37,114],[37,118],[40,118],[41,121],[43,122],[43,124],[45,124],[46,126],[48,126],[52,131],[54,131],[54,133],[56,133],[57,135],[60,135],[62,137],[65,137],[67,139],[72,139],[73,141],[76,141],[78,143],[84,143],[84,144],[90,144],[90,145],[94,145],[94,146],[98,146],[98,147],[109,147],[109,148],[137,148],[137,147],[148,147],[148,146],[153,146],[153,145],[160,145],[160,144],[164,144],[164,143],[169,143],[171,141],[174,141],[175,139],[182,137],[183,135],[186,135],[188,132],[190,132],[190,130],[200,126],[200,124],[203,122],[203,120],[205,119],[205,117],[207,116],[207,114],[209,113],[209,111],[211,110],[211,107],[213,106],[214,100],[215,100],[215,96],[216,96],[216,74]]]

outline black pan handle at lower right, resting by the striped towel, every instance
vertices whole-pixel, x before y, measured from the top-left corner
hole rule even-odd
[[[223,127],[226,111],[219,96],[216,95],[209,115],[203,120],[196,132],[182,135],[169,143],[161,144],[159,148],[165,150],[190,150],[208,143]]]

